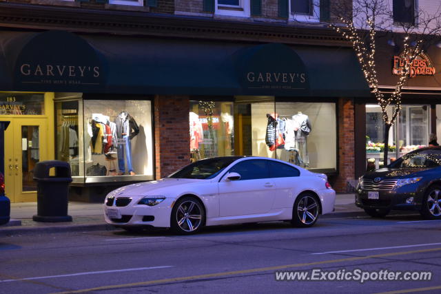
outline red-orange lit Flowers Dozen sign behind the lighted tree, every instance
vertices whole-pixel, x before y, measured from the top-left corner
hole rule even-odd
[[[393,56],[393,68],[392,74],[401,74],[404,70],[404,63],[409,60],[409,56],[405,56],[404,53],[399,56]],[[409,77],[415,76],[433,76],[435,75],[435,67],[433,67],[432,61],[425,53],[420,53],[416,56],[416,59],[411,63]]]

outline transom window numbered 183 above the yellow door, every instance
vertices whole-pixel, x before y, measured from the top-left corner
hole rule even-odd
[[[43,93],[0,93],[0,115],[44,115]]]

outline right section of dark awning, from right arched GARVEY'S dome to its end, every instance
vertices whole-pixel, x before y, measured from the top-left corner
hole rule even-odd
[[[233,63],[244,95],[370,96],[360,65],[349,48],[291,48],[271,43],[238,52]]]

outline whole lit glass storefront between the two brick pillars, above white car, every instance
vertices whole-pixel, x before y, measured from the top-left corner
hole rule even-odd
[[[245,155],[278,158],[317,172],[337,169],[336,103],[190,101],[191,160]]]

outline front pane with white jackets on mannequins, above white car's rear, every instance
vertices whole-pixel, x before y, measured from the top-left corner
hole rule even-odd
[[[336,171],[336,156],[335,103],[276,102],[277,158],[313,171]]]

